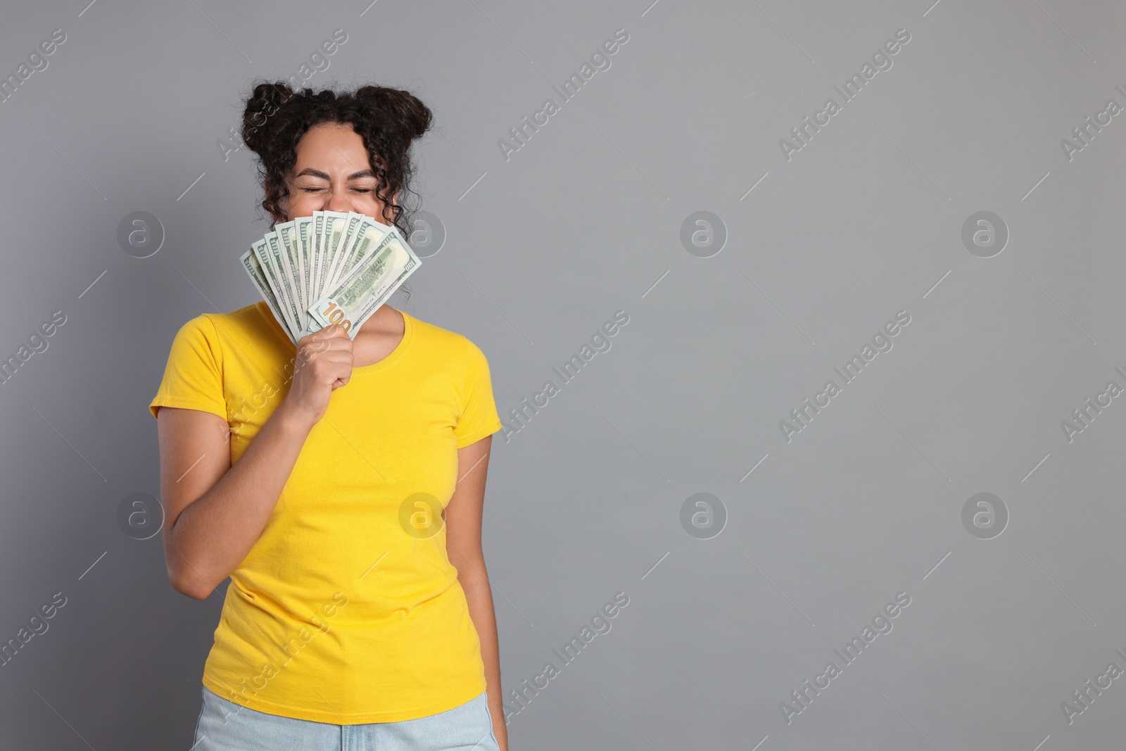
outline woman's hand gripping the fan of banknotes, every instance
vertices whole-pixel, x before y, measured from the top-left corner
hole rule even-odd
[[[351,378],[352,340],[340,324],[325,327],[297,342],[289,393],[278,408],[310,428],[329,409],[329,396]]]

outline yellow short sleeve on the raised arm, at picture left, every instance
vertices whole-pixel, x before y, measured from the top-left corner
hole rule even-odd
[[[215,324],[206,315],[185,323],[172,340],[164,377],[149,411],[155,418],[161,406],[203,410],[230,419],[223,392],[223,348]]]

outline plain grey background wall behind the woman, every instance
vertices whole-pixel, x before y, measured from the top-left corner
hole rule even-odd
[[[268,229],[260,187],[216,142],[253,78],[337,28],[310,86],[382,82],[436,113],[417,187],[447,240],[392,304],[484,350],[502,419],[629,315],[493,440],[504,688],[629,597],[510,718],[511,748],[1120,742],[1126,679],[1070,725],[1061,703],[1126,668],[1126,405],[1071,442],[1061,422],[1126,385],[1126,115],[1073,160],[1060,141],[1126,105],[1126,8],[650,1],[3,9],[5,75],[66,41],[0,104],[0,352],[68,316],[0,386],[0,641],[68,598],[0,668],[6,748],[191,744],[222,596],[176,593],[160,537],[117,509],[159,493],[146,405],[172,334],[257,298],[236,259]],[[617,28],[610,69],[506,161],[497,141]],[[893,66],[787,161],[779,140],[900,28]],[[116,241],[134,211],[167,232],[146,259]],[[697,211],[726,227],[711,258],[679,240]],[[962,243],[978,211],[1010,233],[992,258]],[[787,442],[779,421],[901,310],[893,349]],[[699,492],[726,509],[711,539],[680,522]],[[1010,516],[992,539],[962,522],[980,492]],[[897,592],[894,629],[787,724],[780,703]]]

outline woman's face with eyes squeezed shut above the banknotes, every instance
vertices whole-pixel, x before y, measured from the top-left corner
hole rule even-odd
[[[367,149],[351,125],[321,123],[309,128],[297,142],[297,163],[288,180],[288,215],[280,221],[313,212],[356,212],[387,223],[384,204],[375,196]]]

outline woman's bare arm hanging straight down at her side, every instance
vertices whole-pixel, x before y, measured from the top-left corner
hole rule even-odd
[[[503,695],[500,686],[500,647],[497,640],[497,615],[485,556],[481,548],[481,512],[485,500],[485,476],[489,474],[488,436],[457,449],[457,488],[443,518],[446,520],[446,552],[457,569],[457,581],[465,590],[470,617],[481,640],[481,660],[485,665],[489,713],[493,735],[500,751],[508,751],[508,727],[504,725]]]

